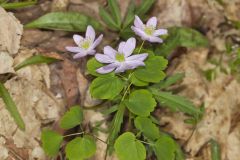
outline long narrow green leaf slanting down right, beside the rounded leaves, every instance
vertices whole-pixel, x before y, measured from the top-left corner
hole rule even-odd
[[[196,117],[202,114],[191,101],[184,97],[173,95],[170,92],[161,92],[156,89],[151,89],[151,91],[161,105],[169,107],[173,111],[182,111]]]

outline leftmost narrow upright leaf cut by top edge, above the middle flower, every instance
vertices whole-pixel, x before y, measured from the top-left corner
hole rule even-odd
[[[120,28],[122,20],[121,20],[121,12],[120,12],[119,5],[116,0],[108,0],[108,4],[114,20],[118,25],[118,28]]]

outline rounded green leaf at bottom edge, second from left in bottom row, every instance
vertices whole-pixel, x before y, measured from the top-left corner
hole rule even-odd
[[[91,158],[96,152],[97,146],[90,136],[77,137],[70,141],[66,148],[66,156],[69,160],[84,160]]]

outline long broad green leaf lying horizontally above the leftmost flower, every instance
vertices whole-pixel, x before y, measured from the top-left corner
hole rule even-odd
[[[85,32],[88,25],[92,25],[97,30],[102,30],[102,26],[98,21],[78,12],[47,13],[37,20],[26,24],[25,27]]]

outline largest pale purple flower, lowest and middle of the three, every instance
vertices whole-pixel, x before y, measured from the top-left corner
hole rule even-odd
[[[129,38],[126,42],[121,42],[117,51],[110,46],[104,47],[104,54],[97,53],[95,58],[97,61],[107,63],[108,65],[98,68],[96,71],[100,74],[109,73],[113,70],[115,70],[115,73],[120,73],[139,66],[145,66],[143,61],[147,58],[148,54],[132,55],[135,47],[135,38]]]

